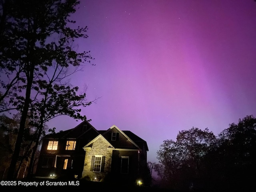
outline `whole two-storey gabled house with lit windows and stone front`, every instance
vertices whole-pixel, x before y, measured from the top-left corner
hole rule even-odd
[[[147,152],[147,142],[130,131],[96,130],[83,121],[43,138],[36,176],[136,182],[147,174]]]

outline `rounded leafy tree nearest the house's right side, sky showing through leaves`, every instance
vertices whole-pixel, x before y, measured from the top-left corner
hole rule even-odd
[[[180,131],[176,141],[165,140],[157,151],[160,165],[156,167],[160,177],[164,178],[163,182],[169,187],[180,188],[198,180],[202,158],[215,139],[214,134],[207,128],[200,130],[193,127]]]

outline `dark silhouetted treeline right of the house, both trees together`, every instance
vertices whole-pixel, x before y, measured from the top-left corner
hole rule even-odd
[[[218,136],[208,128],[180,131],[157,151],[159,185],[180,191],[254,191],[256,118],[246,116]]]

